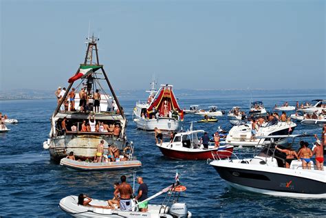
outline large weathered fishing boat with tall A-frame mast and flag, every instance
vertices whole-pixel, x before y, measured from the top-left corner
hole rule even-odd
[[[87,37],[85,61],[80,64],[76,74],[69,78],[69,86],[62,98],[58,98],[58,105],[52,114],[50,137],[43,142],[43,148],[49,149],[51,159],[56,162],[60,162],[71,151],[76,159],[92,160],[100,140],[105,141],[105,149],[109,144],[119,150],[124,149],[127,120],[105,69],[99,63],[97,42],[94,36]],[[72,96],[68,97],[73,86],[76,100],[80,97],[77,93],[83,95],[83,100],[68,107],[67,99],[74,100]],[[96,100],[96,96],[101,96],[101,101]],[[102,105],[102,100],[107,104]],[[100,101],[97,111],[96,101]],[[109,105],[113,103],[116,109],[111,110]]]

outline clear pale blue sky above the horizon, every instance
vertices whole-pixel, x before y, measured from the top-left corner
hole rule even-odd
[[[326,89],[325,1],[0,3],[0,91],[67,87],[89,22],[113,89]]]

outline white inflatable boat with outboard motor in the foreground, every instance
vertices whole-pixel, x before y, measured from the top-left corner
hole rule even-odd
[[[135,199],[131,201],[131,210],[122,211],[116,208],[108,208],[107,200],[91,199],[90,206],[83,206],[78,204],[78,196],[69,195],[61,199],[59,206],[72,217],[166,217],[166,218],[182,218],[191,217],[192,214],[188,211],[186,203],[180,203],[180,193],[186,190],[186,186],[182,186],[179,182],[175,182],[171,186],[162,189],[160,192],[152,195],[144,201],[150,201],[151,199],[166,193],[162,204],[149,204],[147,212],[141,212],[138,208],[142,202],[137,202]]]

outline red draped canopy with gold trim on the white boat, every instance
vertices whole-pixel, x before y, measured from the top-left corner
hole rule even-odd
[[[183,111],[180,109],[177,104],[177,99],[172,91],[171,85],[164,85],[159,90],[159,93],[156,95],[157,97],[153,100],[149,108],[147,109],[148,113],[153,113],[153,109],[156,111],[160,111],[160,115],[164,115],[164,111],[177,111],[178,113],[182,113]]]

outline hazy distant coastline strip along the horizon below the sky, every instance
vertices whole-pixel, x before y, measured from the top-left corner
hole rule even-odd
[[[250,98],[256,94],[320,94],[323,98],[326,89],[174,89],[177,98],[218,98],[229,95],[232,97]],[[147,98],[145,90],[123,90],[117,89],[116,94],[119,99],[139,99]],[[324,97],[325,98],[325,97]],[[46,100],[55,99],[54,91],[37,89],[12,89],[0,92],[0,100]]]

